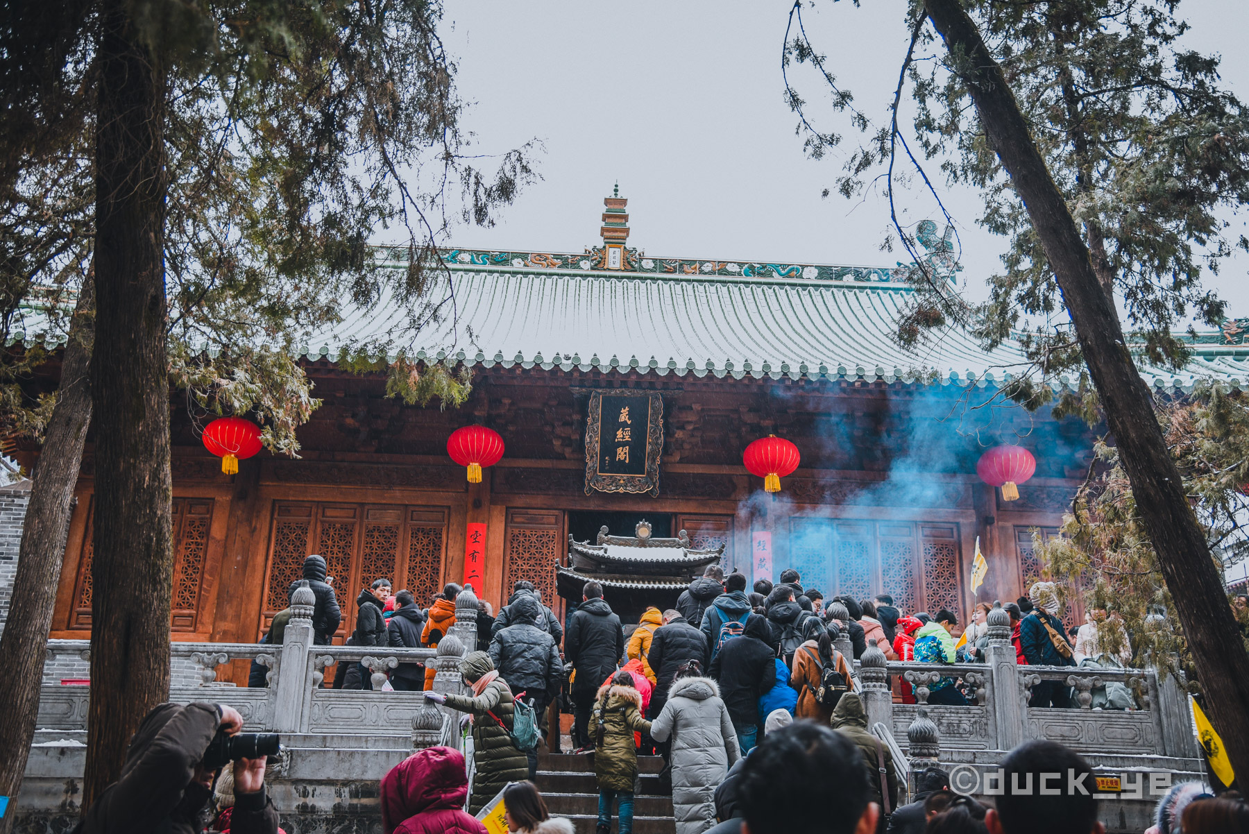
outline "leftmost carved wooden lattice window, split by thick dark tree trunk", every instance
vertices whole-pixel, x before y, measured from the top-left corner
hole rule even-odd
[[[70,628],[91,628],[91,566],[95,562],[95,501],[87,506],[86,531],[82,536],[82,556],[74,591],[74,611]],[[170,608],[170,629],[194,632],[200,614],[204,584],[204,564],[209,556],[209,532],[212,527],[211,498],[174,498],[170,508],[172,533],[174,571]]]

